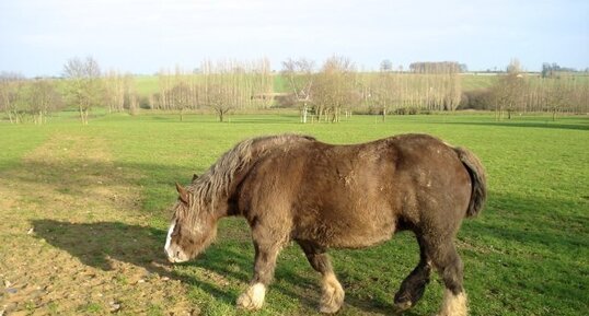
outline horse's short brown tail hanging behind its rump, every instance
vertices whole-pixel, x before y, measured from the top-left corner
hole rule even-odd
[[[485,174],[485,168],[483,167],[483,164],[481,164],[478,157],[471,151],[464,148],[454,148],[454,151],[471,175],[472,194],[469,209],[466,210],[466,216],[475,216],[483,210],[487,199],[487,176]]]

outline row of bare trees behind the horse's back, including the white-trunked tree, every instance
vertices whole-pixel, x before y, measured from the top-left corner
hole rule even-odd
[[[282,78],[301,108],[301,121],[338,121],[342,113],[406,110],[454,110],[461,100],[458,62],[416,62],[411,71],[392,68],[379,72],[358,71],[344,57],[327,59],[319,71],[313,61],[288,59]]]

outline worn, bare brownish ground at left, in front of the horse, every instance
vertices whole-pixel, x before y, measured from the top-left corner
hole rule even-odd
[[[139,176],[86,137],[1,172],[0,315],[198,314],[139,212]]]

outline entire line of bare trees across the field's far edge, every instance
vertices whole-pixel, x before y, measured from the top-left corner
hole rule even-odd
[[[348,58],[334,56],[320,67],[305,58],[282,61],[280,93],[277,75],[267,59],[249,62],[205,60],[187,71],[180,67],[158,73],[158,91],[138,93],[134,77],[118,71],[102,72],[92,58],[72,58],[63,66],[62,79],[27,80],[16,73],[0,73],[0,110],[11,122],[43,124],[51,112],[76,108],[88,124],[94,107],[108,113],[139,108],[171,110],[184,119],[186,112],[212,110],[220,121],[236,109],[272,106],[297,107],[301,121],[339,121],[351,113],[382,115],[416,114],[457,108],[487,109],[497,119],[512,113],[589,113],[589,78],[544,65],[542,75],[531,77],[513,60],[486,89],[463,91],[465,65],[414,62],[408,70],[385,60],[378,72],[358,71]]]

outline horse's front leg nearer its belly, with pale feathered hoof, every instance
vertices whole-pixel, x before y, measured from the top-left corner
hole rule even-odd
[[[332,262],[325,248],[311,243],[298,242],[309,264],[322,276],[320,311],[322,313],[336,313],[344,304],[345,292],[333,271]]]

